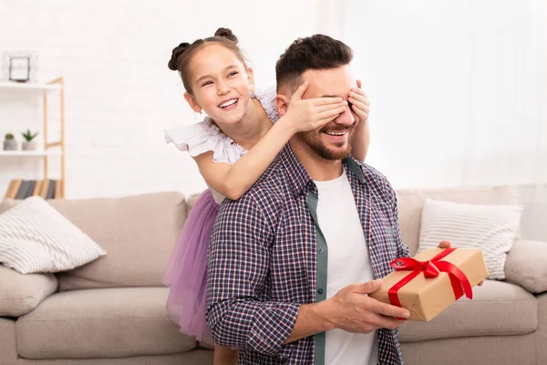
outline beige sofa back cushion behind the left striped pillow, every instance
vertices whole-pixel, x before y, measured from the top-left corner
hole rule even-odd
[[[49,203],[108,252],[57,275],[59,290],[162,286],[170,252],[186,219],[184,195],[146,193]]]

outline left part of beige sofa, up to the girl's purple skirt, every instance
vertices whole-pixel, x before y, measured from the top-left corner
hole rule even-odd
[[[0,266],[0,364],[211,364],[164,307],[163,270],[188,214],[181,193],[49,201],[108,255],[58,275]],[[4,211],[13,201],[0,205]]]

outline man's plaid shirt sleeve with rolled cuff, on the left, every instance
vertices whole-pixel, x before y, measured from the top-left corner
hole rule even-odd
[[[208,255],[207,323],[221,346],[276,355],[293,331],[299,304],[263,300],[273,230],[249,193],[225,201]]]

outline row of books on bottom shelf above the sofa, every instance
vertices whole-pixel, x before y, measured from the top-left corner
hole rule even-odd
[[[5,191],[4,199],[23,200],[29,196],[44,199],[58,199],[61,196],[61,183],[58,180],[12,180]]]

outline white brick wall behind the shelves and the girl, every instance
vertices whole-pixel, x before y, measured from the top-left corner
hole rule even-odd
[[[268,86],[284,48],[323,28],[314,0],[267,2],[264,10],[257,4],[0,0],[0,52],[35,50],[40,81],[66,78],[67,197],[205,188],[191,158],[163,140],[164,129],[197,121],[180,79],[167,68],[170,51],[230,27],[253,61],[258,85]],[[56,121],[57,98],[50,99]],[[41,131],[41,105],[37,93],[0,92],[2,140],[7,131],[19,141],[26,128]],[[56,136],[54,128],[50,140]],[[50,164],[56,172],[56,159]],[[41,166],[37,158],[0,157],[0,195],[15,177],[41,178]]]

